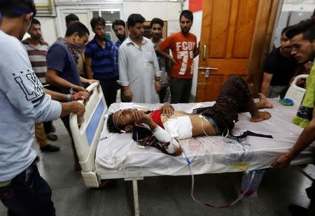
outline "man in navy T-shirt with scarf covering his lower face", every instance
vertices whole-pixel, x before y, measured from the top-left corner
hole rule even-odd
[[[80,91],[87,92],[87,90],[81,86],[81,83],[91,85],[93,82],[97,82],[97,80],[87,80],[80,77],[76,66],[89,35],[90,32],[84,24],[81,22],[73,22],[66,29],[66,36],[55,41],[48,50],[46,81],[55,92],[63,94],[72,94],[73,92]],[[62,122],[64,122],[64,126],[71,137],[75,160],[74,168],[80,170],[71,134],[69,115],[62,117]]]

